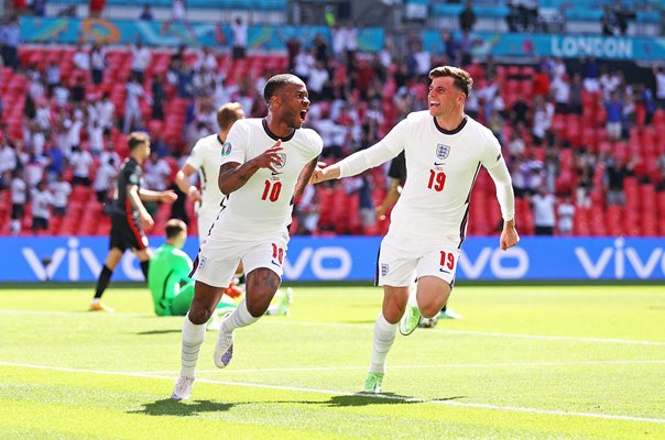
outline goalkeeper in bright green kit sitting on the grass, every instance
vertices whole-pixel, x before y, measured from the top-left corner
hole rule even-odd
[[[148,287],[152,294],[157,316],[185,316],[194,299],[194,279],[189,278],[192,258],[182,251],[187,240],[184,221],[166,222],[166,243],[160,246],[150,261]],[[217,309],[235,308],[233,304],[219,302]]]

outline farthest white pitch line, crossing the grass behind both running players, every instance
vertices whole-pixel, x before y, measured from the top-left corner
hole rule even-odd
[[[119,318],[149,318],[149,315],[141,314],[94,314],[84,311],[51,311],[51,310],[11,310],[0,309],[0,314],[7,315],[56,315],[56,316],[106,316]],[[372,324],[364,323],[344,323],[344,322],[312,322],[312,321],[291,321],[281,319],[263,319],[262,322],[276,323],[282,326],[301,326],[301,327],[337,327],[351,329],[371,329]],[[533,340],[550,340],[550,341],[579,341],[579,342],[599,342],[599,343],[618,343],[630,345],[657,345],[665,346],[665,341],[647,341],[632,339],[613,339],[613,338],[589,338],[589,337],[564,337],[556,334],[525,334],[525,333],[503,333],[493,331],[473,331],[473,330],[440,330],[427,329],[427,333],[441,334],[461,334],[461,336],[481,336],[492,338],[516,338],[516,339],[533,339]]]

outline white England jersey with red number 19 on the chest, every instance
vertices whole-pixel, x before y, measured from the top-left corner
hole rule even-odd
[[[446,131],[425,110],[408,114],[380,144],[394,155],[404,150],[406,158],[406,184],[388,233],[461,245],[480,165],[504,164],[492,132],[468,116]]]

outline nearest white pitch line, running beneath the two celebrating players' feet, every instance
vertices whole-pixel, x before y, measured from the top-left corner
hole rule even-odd
[[[66,373],[146,377],[146,378],[168,380],[168,381],[174,381],[176,378],[175,376],[163,376],[163,375],[156,375],[156,374],[112,372],[112,371],[101,371],[101,370],[83,370],[83,369],[70,369],[70,367],[64,367],[64,366],[33,365],[33,364],[23,364],[23,363],[3,362],[3,361],[0,361],[0,365],[22,367],[22,369],[59,371],[59,372],[66,372]],[[515,411],[515,413],[531,413],[531,414],[542,414],[542,415],[548,415],[548,416],[585,417],[585,418],[595,418],[595,419],[665,424],[665,419],[652,418],[652,417],[634,417],[634,416],[614,415],[614,414],[566,411],[563,409],[528,408],[528,407],[520,407],[520,406],[502,406],[502,405],[479,404],[479,403],[470,403],[470,402],[436,400],[436,399],[426,400],[426,399],[419,399],[419,398],[414,398],[414,397],[390,396],[390,395],[385,395],[385,394],[368,395],[368,394],[358,394],[358,393],[350,393],[350,392],[336,391],[336,389],[318,389],[318,388],[304,388],[304,387],[299,387],[299,386],[253,384],[253,383],[248,383],[248,382],[212,381],[212,380],[197,380],[197,382],[204,383],[204,384],[212,384],[212,385],[242,386],[242,387],[248,387],[248,388],[262,388],[262,389],[280,389],[280,391],[287,391],[287,392],[326,394],[326,395],[334,395],[334,396],[361,396],[361,397],[377,398],[377,399],[389,399],[389,400],[400,400],[400,402],[422,403],[422,404],[437,404],[437,405],[457,406],[457,407],[465,407],[465,408],[481,408],[481,409],[504,410],[504,411]]]

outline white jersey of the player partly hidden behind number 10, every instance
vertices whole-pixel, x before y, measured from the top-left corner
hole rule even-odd
[[[217,215],[224,198],[217,184],[219,165],[221,165],[221,147],[222,142],[219,134],[201,138],[196,142],[185,162],[198,172],[200,178],[201,204],[199,216]]]

